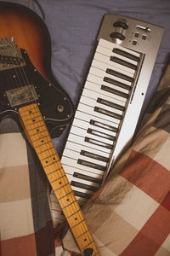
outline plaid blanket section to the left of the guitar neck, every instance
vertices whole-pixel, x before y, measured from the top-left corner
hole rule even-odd
[[[0,132],[0,255],[52,256],[54,229],[42,166],[14,119],[3,119]]]

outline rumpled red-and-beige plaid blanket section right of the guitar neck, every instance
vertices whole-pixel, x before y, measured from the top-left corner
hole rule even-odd
[[[102,256],[170,255],[170,65],[143,123],[83,208]],[[78,252],[70,231],[64,246]]]

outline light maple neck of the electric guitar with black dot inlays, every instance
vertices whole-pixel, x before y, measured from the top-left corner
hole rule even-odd
[[[54,189],[54,194],[65,214],[65,218],[70,225],[82,255],[98,256],[98,249],[88,231],[81,208],[65,175],[37,104],[22,107],[19,109],[19,113],[26,137],[42,163],[43,170],[48,177],[52,189]]]

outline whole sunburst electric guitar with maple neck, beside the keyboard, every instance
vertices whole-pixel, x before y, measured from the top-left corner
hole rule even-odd
[[[0,3],[0,24],[0,118],[19,117],[82,255],[98,256],[49,135],[52,128],[64,129],[74,108],[51,73],[48,29],[31,9],[16,3]]]

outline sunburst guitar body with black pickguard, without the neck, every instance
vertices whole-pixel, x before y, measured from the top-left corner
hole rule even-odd
[[[71,121],[73,104],[51,72],[48,28],[31,9],[0,2],[0,118],[37,102],[52,137]]]

